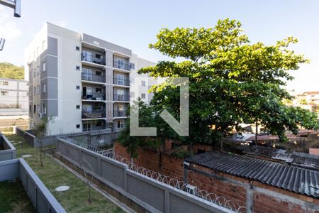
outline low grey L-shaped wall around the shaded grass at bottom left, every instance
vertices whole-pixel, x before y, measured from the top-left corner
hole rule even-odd
[[[30,168],[23,158],[0,162],[0,182],[20,179],[26,193],[40,213],[64,213],[65,209],[53,197],[43,182]]]

